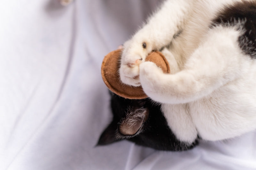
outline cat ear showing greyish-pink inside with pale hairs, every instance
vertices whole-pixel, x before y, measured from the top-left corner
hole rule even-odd
[[[117,138],[129,138],[138,135],[143,130],[143,124],[148,119],[148,109],[140,108],[135,111],[131,111],[120,122],[118,126],[119,134],[116,134]]]

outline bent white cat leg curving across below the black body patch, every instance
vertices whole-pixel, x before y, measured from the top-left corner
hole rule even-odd
[[[187,103],[213,92],[240,75],[241,49],[235,28],[216,27],[209,30],[202,43],[176,74],[164,74],[155,63],[140,64],[140,82],[153,100]],[[246,58],[246,57],[245,57]]]

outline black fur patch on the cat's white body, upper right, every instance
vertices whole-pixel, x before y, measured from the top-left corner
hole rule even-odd
[[[212,21],[214,26],[236,26],[238,22],[244,23],[244,33],[238,38],[239,46],[245,55],[256,59],[256,2],[239,2],[233,6],[225,7]]]

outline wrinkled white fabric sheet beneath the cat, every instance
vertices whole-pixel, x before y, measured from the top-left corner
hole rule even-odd
[[[100,66],[157,0],[8,0],[0,5],[0,169],[256,169],[256,133],[161,152],[94,147],[111,120]]]

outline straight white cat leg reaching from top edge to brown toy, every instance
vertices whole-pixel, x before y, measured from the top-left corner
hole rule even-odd
[[[147,24],[129,41],[124,43],[119,70],[121,81],[140,86],[139,65],[152,50],[159,50],[169,44],[173,36],[182,30],[193,1],[165,1]]]

